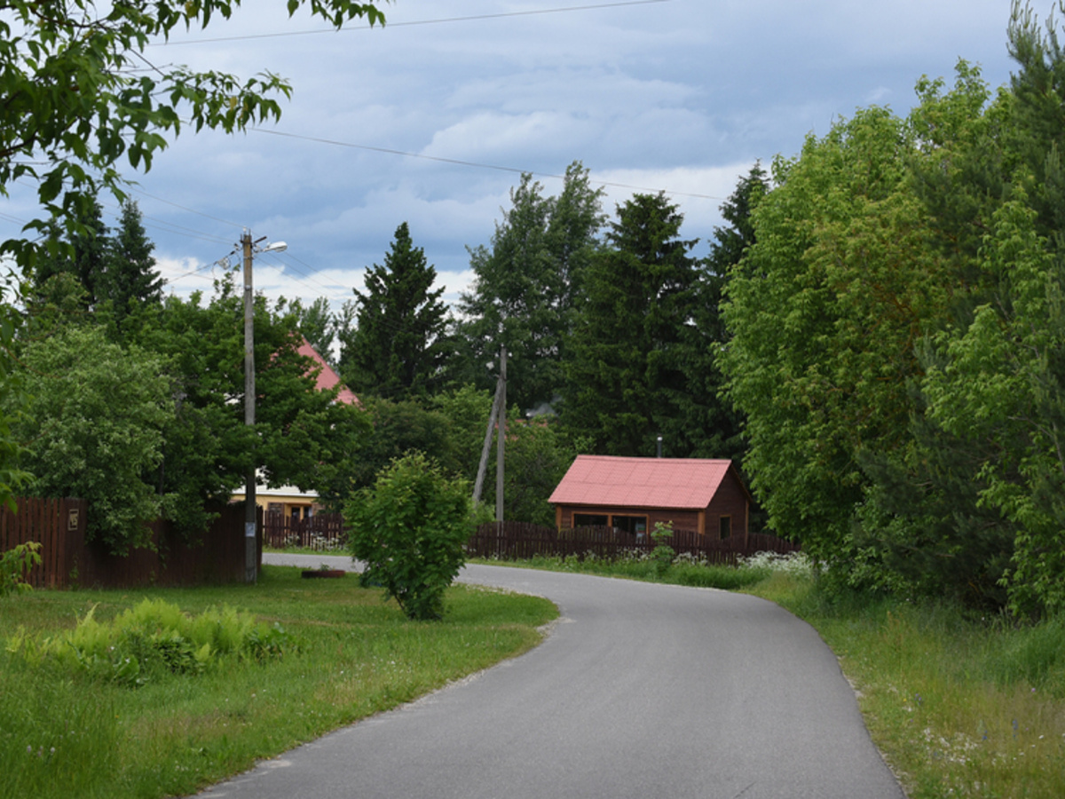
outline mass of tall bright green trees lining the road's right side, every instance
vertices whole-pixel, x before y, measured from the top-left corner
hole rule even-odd
[[[1060,4],[1065,13],[1065,5]],[[772,523],[852,586],[1065,607],[1065,51],[961,62],[777,159],[721,359]]]

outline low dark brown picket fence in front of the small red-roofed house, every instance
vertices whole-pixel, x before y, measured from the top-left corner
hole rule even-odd
[[[712,564],[736,564],[737,558],[756,552],[787,554],[798,552],[799,544],[776,536],[752,533],[723,540],[708,540],[694,531],[676,529],[666,541],[677,554],[688,553]],[[626,533],[616,527],[576,527],[556,531],[524,522],[491,522],[482,524],[470,539],[466,552],[471,557],[523,560],[535,555],[584,559],[589,555],[615,559],[626,554],[650,554],[657,544],[645,534]]]

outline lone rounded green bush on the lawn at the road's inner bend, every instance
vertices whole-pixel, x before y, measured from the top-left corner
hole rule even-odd
[[[381,585],[408,618],[442,618],[444,589],[465,562],[474,529],[466,482],[409,453],[384,469],[373,489],[357,493],[344,517],[364,578]]]

